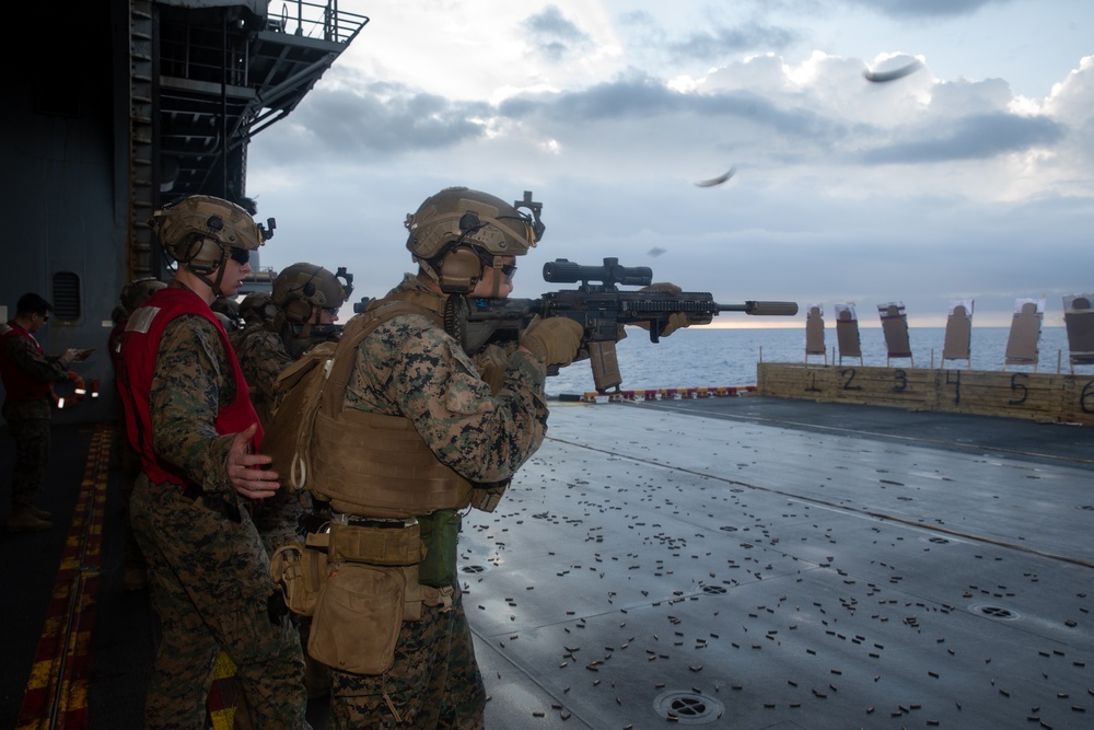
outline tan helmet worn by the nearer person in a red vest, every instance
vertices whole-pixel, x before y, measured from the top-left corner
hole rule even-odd
[[[277,222],[256,223],[242,207],[210,195],[191,195],[156,210],[148,221],[171,258],[221,296],[224,262],[236,251],[257,251],[274,237]],[[208,277],[217,271],[216,281]]]

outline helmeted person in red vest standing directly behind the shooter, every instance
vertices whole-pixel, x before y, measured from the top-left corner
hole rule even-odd
[[[118,372],[141,456],[132,529],[162,629],[146,727],[202,728],[223,650],[254,727],[309,728],[300,640],[270,610],[269,558],[245,509],[277,493],[278,475],[259,453],[246,381],[210,309],[236,296],[274,221],[267,230],[240,206],[190,196],[149,224],[177,270],[130,314]]]

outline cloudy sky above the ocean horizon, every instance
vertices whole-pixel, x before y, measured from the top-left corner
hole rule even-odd
[[[412,269],[406,213],[466,185],[544,204],[517,297],[558,287],[545,262],[607,256],[829,324],[901,301],[940,326],[974,299],[974,326],[1008,326],[1044,294],[1056,326],[1094,291],[1091,0],[340,7],[371,22],[251,146],[264,266],[346,266],[381,296]],[[804,326],[745,318],[718,321]]]

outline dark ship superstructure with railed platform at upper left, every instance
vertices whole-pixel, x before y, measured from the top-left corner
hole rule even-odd
[[[121,287],[166,275],[144,221],[191,194],[245,207],[247,146],[290,114],[369,19],[337,0],[15,3],[0,140],[8,222],[0,311],[56,308],[47,352],[100,350],[80,374],[113,392],[105,341]],[[45,30],[44,30],[45,28]],[[43,48],[44,46],[44,48]],[[33,60],[32,60],[33,59]],[[264,219],[263,211],[256,218]],[[260,266],[255,286],[263,285]],[[268,279],[268,277],[267,277]],[[58,414],[102,420],[110,398]]]

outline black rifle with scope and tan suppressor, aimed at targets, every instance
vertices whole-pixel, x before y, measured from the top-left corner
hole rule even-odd
[[[533,317],[566,316],[585,329],[578,359],[587,357],[593,384],[600,393],[618,391],[622,382],[616,359],[616,343],[626,335],[622,325],[640,324],[650,329],[650,341],[660,341],[670,317],[679,312],[687,324],[710,324],[721,312],[744,312],[753,316],[792,316],[796,302],[719,304],[708,292],[621,291],[618,285],[648,287],[653,270],[647,266],[620,266],[618,258],[605,258],[603,266],[581,266],[565,258],[544,264],[544,280],[581,282],[577,289],[550,291],[538,299],[489,299],[450,297],[445,326],[475,352],[490,341],[519,339]],[[598,283],[593,283],[598,282]],[[548,374],[557,374],[552,368]]]

